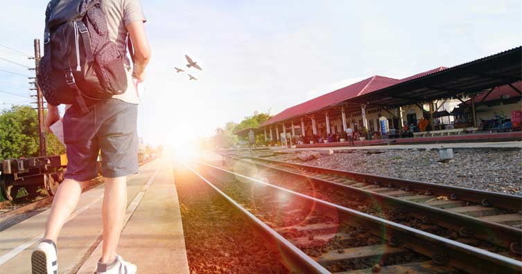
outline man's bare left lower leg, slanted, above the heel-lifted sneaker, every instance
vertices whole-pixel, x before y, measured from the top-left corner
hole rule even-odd
[[[44,239],[51,239],[56,242],[64,223],[78,205],[84,183],[73,179],[65,179],[60,183],[53,199],[51,213],[47,217]]]

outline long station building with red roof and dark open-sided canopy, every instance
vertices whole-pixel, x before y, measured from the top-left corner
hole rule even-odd
[[[367,139],[417,137],[417,131],[429,131],[431,136],[480,132],[487,130],[485,124],[502,122],[513,111],[521,111],[521,53],[522,47],[517,47],[403,79],[374,75],[289,107],[258,128],[236,134],[252,131],[263,135],[268,145],[281,145],[281,140],[317,143],[318,138],[338,136],[347,127]],[[428,125],[419,130],[422,118]],[[512,129],[516,127],[507,130]]]

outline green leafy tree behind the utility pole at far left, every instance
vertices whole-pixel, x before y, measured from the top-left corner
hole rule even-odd
[[[12,106],[0,113],[0,159],[39,156],[37,111],[31,106]],[[47,154],[64,154],[65,147],[46,134]]]

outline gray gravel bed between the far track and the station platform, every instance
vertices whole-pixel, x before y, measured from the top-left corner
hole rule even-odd
[[[521,149],[453,149],[440,161],[438,149],[339,150],[306,162],[294,154],[267,157],[350,172],[441,183],[522,196]]]

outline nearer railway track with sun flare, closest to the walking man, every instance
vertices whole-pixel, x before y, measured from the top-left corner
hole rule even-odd
[[[299,273],[521,273],[522,263],[509,257],[220,167],[194,165],[189,168],[255,218],[269,238],[283,237],[324,268]],[[302,253],[294,253],[295,262]]]

